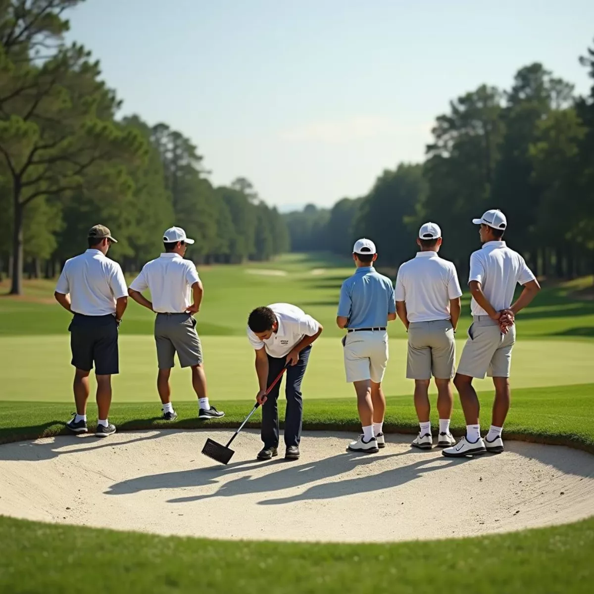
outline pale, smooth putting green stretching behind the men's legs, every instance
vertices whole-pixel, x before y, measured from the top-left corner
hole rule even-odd
[[[245,337],[204,336],[209,395],[214,403],[252,399],[257,388],[254,352]],[[463,341],[457,345],[462,352]],[[0,400],[71,402],[72,367],[68,335],[0,337]],[[514,347],[512,386],[515,388],[561,386],[592,381],[594,343],[566,340],[522,340]],[[150,336],[121,336],[121,374],[113,381],[114,402],[150,402],[158,399],[154,386],[156,352]],[[412,393],[405,378],[406,341],[390,340],[390,363],[384,379],[387,395]],[[477,381],[478,390],[489,390],[488,379]],[[321,338],[314,346],[304,381],[304,397],[350,396],[345,383],[342,347],[334,338]],[[172,373],[174,402],[194,400],[189,371]]]

